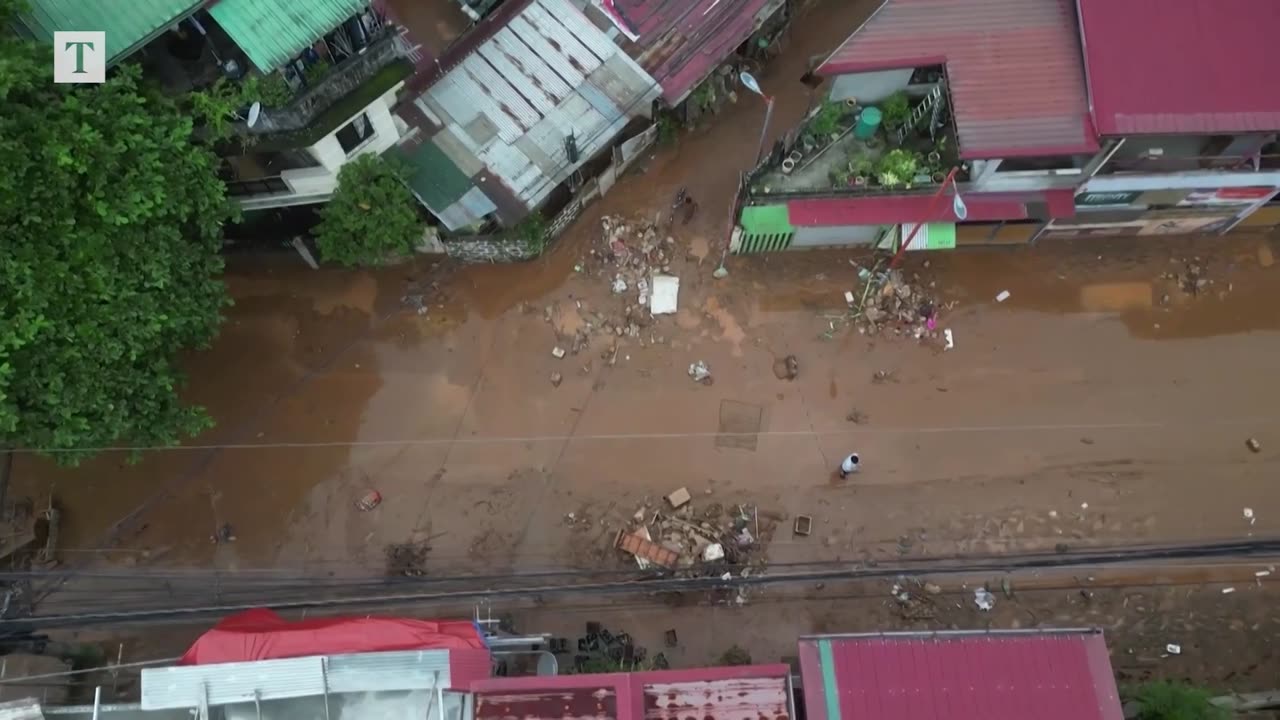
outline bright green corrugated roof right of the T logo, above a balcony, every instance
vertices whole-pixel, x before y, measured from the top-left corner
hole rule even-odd
[[[209,8],[209,14],[266,73],[288,63],[366,5],[369,0],[220,0]]]

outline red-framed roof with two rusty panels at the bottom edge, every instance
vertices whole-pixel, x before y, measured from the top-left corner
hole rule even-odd
[[[476,720],[791,720],[786,665],[490,678]]]

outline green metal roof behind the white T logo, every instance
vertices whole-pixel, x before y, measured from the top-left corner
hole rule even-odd
[[[105,31],[108,63],[122,60],[201,0],[28,0],[19,22],[36,40],[52,44],[55,31]]]

